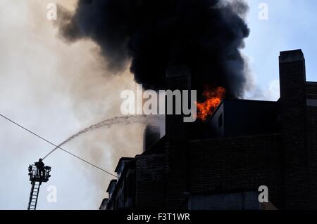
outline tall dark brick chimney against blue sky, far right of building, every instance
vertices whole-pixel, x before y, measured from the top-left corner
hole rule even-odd
[[[284,148],[283,209],[309,209],[306,147],[306,70],[301,50],[280,52],[280,106]]]

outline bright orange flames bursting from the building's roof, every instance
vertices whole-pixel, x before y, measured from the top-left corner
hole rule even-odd
[[[203,95],[206,101],[204,103],[196,103],[197,118],[201,121],[206,121],[206,119],[215,112],[221,100],[225,98],[225,88],[209,88],[205,86]]]

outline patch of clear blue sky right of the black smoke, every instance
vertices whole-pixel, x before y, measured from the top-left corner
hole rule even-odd
[[[259,20],[261,3],[268,5],[268,20]],[[265,92],[278,80],[280,51],[299,48],[306,59],[307,81],[317,81],[317,1],[249,0],[249,8],[251,34],[243,52],[249,57],[256,87]]]

